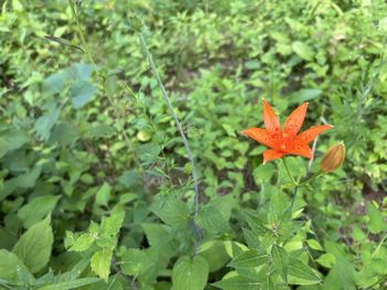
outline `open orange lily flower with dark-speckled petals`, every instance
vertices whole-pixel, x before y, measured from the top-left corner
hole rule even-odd
[[[272,107],[263,99],[263,121],[262,128],[249,128],[242,131],[251,139],[269,147],[263,152],[263,164],[273,159],[280,159],[287,154],[301,155],[307,159],[313,157],[313,152],[308,143],[315,139],[321,132],[333,128],[331,125],[313,126],[301,132],[304,122],[307,103],[302,104],[286,119],[281,130],[280,121]]]

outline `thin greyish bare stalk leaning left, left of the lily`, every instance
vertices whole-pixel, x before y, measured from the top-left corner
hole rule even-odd
[[[192,174],[192,179],[194,179],[194,185],[195,185],[195,214],[198,213],[199,211],[199,186],[198,186],[198,176],[197,176],[197,173],[196,173],[196,169],[195,169],[195,161],[194,161],[194,157],[192,157],[192,153],[191,153],[191,150],[189,148],[189,143],[188,143],[188,140],[186,138],[186,135],[181,128],[181,125],[180,125],[180,121],[174,110],[174,107],[172,107],[172,104],[170,103],[170,99],[168,97],[168,94],[163,85],[163,82],[161,82],[161,78],[158,74],[158,71],[157,71],[157,67],[156,67],[156,64],[153,60],[153,56],[146,45],[146,42],[144,40],[144,36],[140,32],[137,32],[137,36],[138,36],[138,40],[139,40],[139,43],[142,45],[142,49],[145,53],[145,56],[149,63],[149,66],[150,66],[150,69],[153,72],[153,74],[155,75],[156,77],[156,80],[157,80],[157,84],[163,93],[163,97],[164,97],[164,100],[166,101],[167,106],[168,106],[168,109],[169,109],[169,112],[170,115],[174,117],[174,120],[176,122],[176,127],[180,133],[180,138],[181,138],[181,141],[186,148],[186,152],[187,152],[187,155],[188,155],[188,159],[191,163],[191,174]]]

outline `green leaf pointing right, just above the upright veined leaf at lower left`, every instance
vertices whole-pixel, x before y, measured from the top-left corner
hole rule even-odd
[[[60,196],[44,195],[38,196],[18,211],[18,217],[23,222],[23,226],[29,228],[50,214]]]

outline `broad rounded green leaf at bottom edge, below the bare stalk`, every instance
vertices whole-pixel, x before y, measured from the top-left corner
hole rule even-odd
[[[172,269],[172,290],[203,290],[208,279],[208,264],[200,256],[180,257]]]

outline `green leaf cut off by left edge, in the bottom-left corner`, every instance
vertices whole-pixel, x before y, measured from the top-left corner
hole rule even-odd
[[[19,280],[18,269],[23,269],[23,272],[29,273],[25,265],[15,254],[6,249],[0,249],[0,278],[11,282],[17,282]],[[32,278],[31,273],[29,273],[29,278]]]

